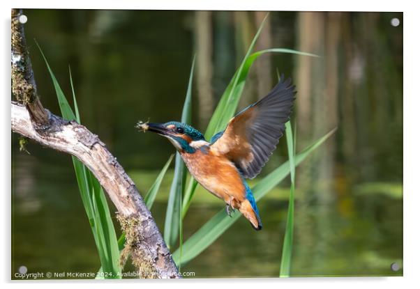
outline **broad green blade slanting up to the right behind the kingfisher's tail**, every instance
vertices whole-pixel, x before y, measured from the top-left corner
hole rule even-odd
[[[296,155],[295,164],[296,166],[303,162],[310,153],[312,153],[316,148],[318,148],[324,141],[326,141],[336,129],[331,130],[331,132],[325,134],[320,139],[315,141],[313,144],[308,146],[308,148],[304,149]],[[260,182],[257,183],[252,189],[255,200],[259,201],[263,196],[265,196],[273,187],[278,185],[279,182],[284,180],[287,175],[290,173],[290,165],[289,162],[285,162],[277,169],[269,173],[266,177],[264,177]],[[198,256],[202,251],[207,249],[217,238],[223,234],[234,224],[241,214],[239,212],[232,213],[232,217],[228,217],[225,209],[220,210],[214,217],[212,217],[209,221],[207,221],[204,226],[202,226],[197,232],[195,232],[191,237],[183,243],[183,255],[181,265],[185,265],[190,260]],[[174,251],[172,253],[172,257],[174,258],[175,262],[179,260],[179,250]],[[180,264],[177,264],[180,265]]]

